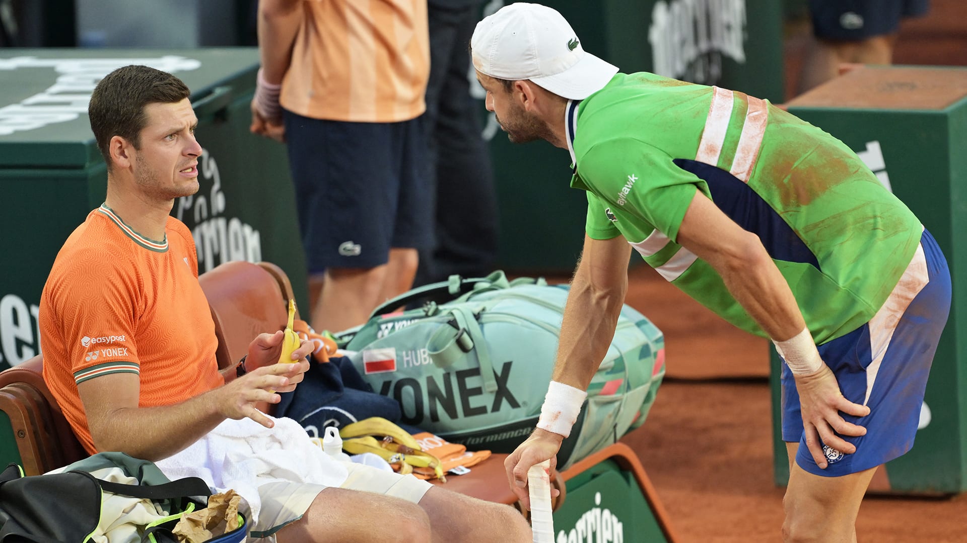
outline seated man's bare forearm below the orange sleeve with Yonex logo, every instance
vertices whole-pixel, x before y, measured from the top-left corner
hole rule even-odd
[[[218,391],[170,406],[114,410],[90,428],[94,444],[100,451],[121,451],[153,462],[171,456],[224,420],[218,410]]]

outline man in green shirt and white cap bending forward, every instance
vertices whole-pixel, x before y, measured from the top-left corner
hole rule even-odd
[[[791,464],[783,533],[855,541],[876,467],[913,445],[950,309],[946,261],[920,220],[830,134],[743,93],[619,73],[550,8],[501,9],[471,48],[511,141],[567,149],[571,186],[588,198],[541,420],[506,463],[521,499],[527,470],[570,434],[633,248],[776,343]]]

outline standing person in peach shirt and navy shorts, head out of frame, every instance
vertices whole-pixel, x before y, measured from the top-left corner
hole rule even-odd
[[[253,133],[286,142],[315,329],[366,322],[432,242],[425,0],[261,0]]]

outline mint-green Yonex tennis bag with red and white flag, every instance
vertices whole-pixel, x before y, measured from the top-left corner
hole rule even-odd
[[[338,336],[401,421],[471,449],[511,452],[541,414],[568,285],[504,272],[414,289]],[[391,313],[421,300],[423,307]],[[565,469],[644,422],[664,376],[664,339],[625,305],[588,399],[558,454]]]

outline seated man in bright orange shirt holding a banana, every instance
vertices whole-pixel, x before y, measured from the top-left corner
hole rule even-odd
[[[254,406],[278,403],[276,391],[302,381],[310,342],[293,353],[297,363],[279,364],[282,333],[262,333],[237,368],[219,374],[194,243],[170,216],[175,198],[198,190],[202,150],[189,94],[169,73],[129,66],[104,77],[91,97],[91,128],[108,165],[107,197],[58,253],[40,310],[44,381],[88,452],[122,451],[161,463],[209,439],[229,419],[249,423],[233,428],[260,433],[297,424]],[[306,449],[308,436],[297,432],[306,442],[283,443],[271,454],[290,458],[289,451]],[[254,435],[233,436],[245,460],[263,458],[265,451],[250,445]],[[308,450],[327,472],[319,479],[331,484],[275,474],[266,483],[262,473],[253,475],[249,487],[257,496],[240,492],[260,503],[249,537],[271,541],[278,531],[287,541],[530,541],[523,517],[510,507]],[[222,450],[219,466],[205,468],[224,469],[235,452]]]

